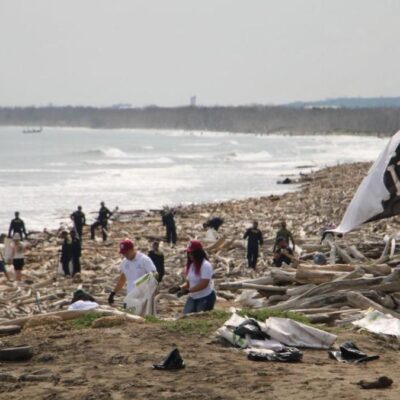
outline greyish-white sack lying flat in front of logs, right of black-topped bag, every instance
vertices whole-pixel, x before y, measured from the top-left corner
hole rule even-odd
[[[329,349],[336,340],[331,333],[312,328],[289,318],[270,317],[262,330],[287,346]]]

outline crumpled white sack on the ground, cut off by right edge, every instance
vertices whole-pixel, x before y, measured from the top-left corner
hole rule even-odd
[[[400,338],[400,320],[377,310],[369,310],[364,318],[354,321],[353,325],[373,333]]]

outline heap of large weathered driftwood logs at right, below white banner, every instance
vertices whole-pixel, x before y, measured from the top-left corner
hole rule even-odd
[[[296,269],[271,268],[263,277],[221,282],[219,288],[240,290],[239,302],[245,306],[297,311],[315,323],[348,323],[370,307],[400,318],[400,268],[395,268],[400,256],[395,255],[394,239],[386,240],[377,259],[366,257],[354,245],[344,249],[331,242],[330,248],[341,263],[301,261]]]

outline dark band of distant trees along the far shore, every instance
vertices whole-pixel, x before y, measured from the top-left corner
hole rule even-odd
[[[391,135],[400,129],[400,108],[3,107],[0,125]]]

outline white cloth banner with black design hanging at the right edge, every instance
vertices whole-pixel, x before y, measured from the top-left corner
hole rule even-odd
[[[400,131],[370,168],[340,225],[330,232],[346,233],[361,224],[400,213]]]

